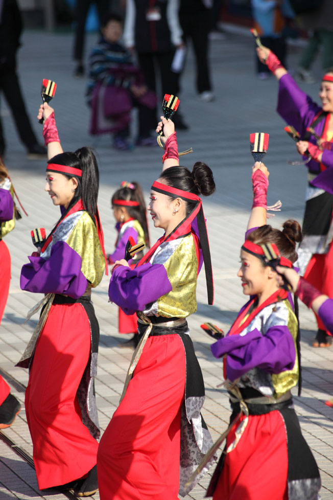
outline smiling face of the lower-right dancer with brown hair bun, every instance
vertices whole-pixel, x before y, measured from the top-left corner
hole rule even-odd
[[[241,250],[241,267],[237,276],[242,280],[244,295],[261,296],[261,294],[268,292],[269,297],[272,284],[271,272],[271,267],[263,266],[258,257]]]

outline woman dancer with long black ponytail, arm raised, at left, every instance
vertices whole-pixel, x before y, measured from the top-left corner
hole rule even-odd
[[[61,216],[21,270],[22,290],[45,298],[18,366],[30,369],[25,404],[39,488],[88,496],[98,489],[100,436],[93,384],[99,325],[91,288],[100,283],[106,260],[99,171],[89,148],[62,151],[50,106],[42,105],[38,118],[49,156],[45,191]]]

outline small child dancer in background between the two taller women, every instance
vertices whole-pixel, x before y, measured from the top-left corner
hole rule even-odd
[[[113,194],[111,205],[114,218],[117,221],[115,229],[118,236],[115,250],[108,257],[108,263],[114,264],[116,260],[124,258],[126,244],[130,237],[135,243],[145,243],[146,247],[149,247],[149,233],[144,195],[139,184],[124,181],[121,188]],[[134,258],[129,261],[130,265],[134,267],[135,262],[138,262],[143,255],[143,252],[135,254]],[[134,343],[136,347],[138,339],[136,314],[128,316],[119,308],[118,326],[119,333],[134,333],[133,338],[128,342]]]

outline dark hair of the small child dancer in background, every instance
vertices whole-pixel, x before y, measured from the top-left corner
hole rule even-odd
[[[146,245],[150,246],[144,193],[142,192],[141,186],[138,183],[134,181],[131,184],[134,186],[134,189],[130,188],[129,186],[124,186],[120,189],[117,189],[116,192],[113,193],[111,198],[112,207],[114,207],[113,200],[137,201],[139,203],[138,207],[124,208],[126,208],[130,217],[138,220],[138,222],[141,224],[141,227],[145,233]],[[117,207],[119,207],[119,205],[117,205]]]

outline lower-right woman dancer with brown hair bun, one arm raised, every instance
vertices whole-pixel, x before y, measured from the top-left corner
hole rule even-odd
[[[256,163],[254,207],[237,274],[250,300],[226,337],[211,346],[216,357],[223,357],[234,423],[207,496],[317,500],[319,471],[302,437],[291,395],[299,377],[298,322],[261,246],[273,244],[281,264],[291,267],[297,259],[300,225],[288,220],[282,231],[266,225],[264,172],[268,176],[266,167]]]

